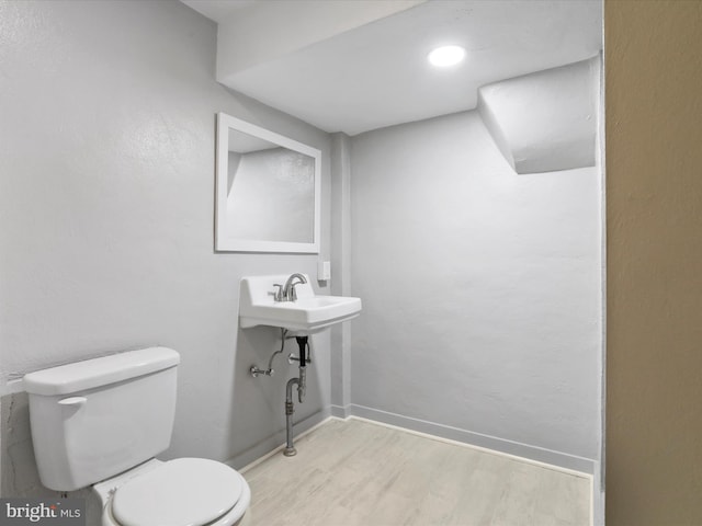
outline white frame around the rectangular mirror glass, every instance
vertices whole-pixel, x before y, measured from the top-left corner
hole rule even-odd
[[[253,137],[268,140],[283,148],[294,150],[315,159],[315,213],[313,242],[288,242],[288,241],[258,241],[250,239],[239,239],[231,235],[231,229],[227,228],[227,168],[229,152],[229,129],[242,132]],[[240,118],[233,117],[226,113],[217,113],[217,167],[215,184],[215,250],[218,252],[290,252],[290,253],[319,253],[319,218],[321,210],[321,151],[303,145],[296,140],[275,134],[265,128],[257,126]],[[284,218],[282,218],[284,220]]]

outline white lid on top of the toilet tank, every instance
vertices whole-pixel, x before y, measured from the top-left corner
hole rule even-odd
[[[23,379],[24,390],[47,397],[70,395],[168,369],[179,363],[180,355],[168,347],[127,351],[30,373]]]

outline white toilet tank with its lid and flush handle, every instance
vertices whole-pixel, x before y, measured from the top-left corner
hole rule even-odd
[[[168,448],[179,354],[129,351],[24,377],[42,483],[84,488]]]

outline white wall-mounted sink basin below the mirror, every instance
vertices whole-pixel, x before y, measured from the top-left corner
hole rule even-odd
[[[318,332],[361,313],[361,298],[317,296],[307,283],[295,286],[295,301],[276,301],[278,287],[287,275],[242,277],[239,286],[239,323],[242,329],[256,325],[282,327],[298,333]]]

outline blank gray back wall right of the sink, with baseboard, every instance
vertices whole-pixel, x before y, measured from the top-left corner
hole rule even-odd
[[[591,471],[600,188],[517,175],[477,112],[354,137],[351,412]]]

